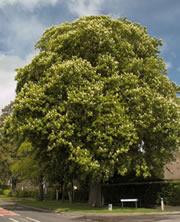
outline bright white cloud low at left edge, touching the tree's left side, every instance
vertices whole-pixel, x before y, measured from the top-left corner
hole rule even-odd
[[[35,53],[22,59],[18,56],[0,55],[0,109],[15,97],[15,69],[29,63]]]

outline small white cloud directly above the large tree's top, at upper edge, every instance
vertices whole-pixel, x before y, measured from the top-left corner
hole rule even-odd
[[[105,0],[69,0],[71,13],[77,16],[98,15]]]

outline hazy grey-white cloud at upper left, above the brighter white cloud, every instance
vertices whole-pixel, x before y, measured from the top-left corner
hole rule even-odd
[[[0,20],[0,27],[4,21]],[[13,15],[8,23],[7,34],[0,38],[1,46],[5,46],[5,54],[18,55],[25,57],[33,51],[36,42],[40,39],[42,33],[46,30],[46,25],[34,15],[22,16]],[[0,28],[0,32],[5,33],[6,29]],[[3,52],[1,52],[3,54]]]

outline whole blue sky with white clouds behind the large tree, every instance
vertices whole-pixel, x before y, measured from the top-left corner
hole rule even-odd
[[[50,26],[86,15],[127,17],[163,41],[169,78],[180,84],[180,0],[0,0],[0,109],[15,98],[15,69],[30,63]]]

